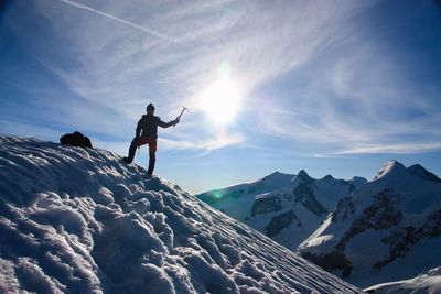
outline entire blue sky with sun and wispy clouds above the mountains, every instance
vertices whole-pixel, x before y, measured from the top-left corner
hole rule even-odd
[[[190,110],[154,173],[192,193],[388,160],[440,176],[440,35],[435,0],[3,0],[0,133],[126,155],[152,102]]]

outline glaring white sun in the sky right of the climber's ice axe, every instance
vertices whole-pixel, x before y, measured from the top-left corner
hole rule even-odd
[[[228,76],[224,76],[208,86],[200,96],[202,111],[217,126],[232,123],[240,109],[239,87]]]

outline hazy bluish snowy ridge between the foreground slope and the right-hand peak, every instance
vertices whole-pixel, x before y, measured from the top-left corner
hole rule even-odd
[[[273,173],[257,182],[211,190],[197,197],[228,216],[294,250],[313,233],[340,199],[366,179],[311,178]]]

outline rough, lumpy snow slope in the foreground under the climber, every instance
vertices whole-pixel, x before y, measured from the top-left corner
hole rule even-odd
[[[0,293],[361,293],[107,151],[0,137]]]

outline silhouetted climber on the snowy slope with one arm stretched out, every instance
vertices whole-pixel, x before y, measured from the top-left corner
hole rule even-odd
[[[143,115],[141,119],[138,121],[137,132],[131,141],[129,149],[129,156],[123,157],[122,160],[126,163],[131,163],[135,157],[135,153],[137,148],[140,145],[149,144],[149,170],[147,173],[149,175],[153,174],[154,162],[157,161],[157,139],[158,139],[158,126],[161,128],[169,128],[171,126],[175,126],[179,123],[179,118],[172,120],[170,122],[163,122],[159,117],[153,116],[154,106],[149,104],[146,108],[147,115]]]

